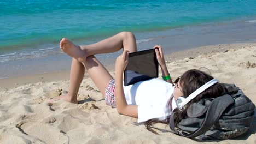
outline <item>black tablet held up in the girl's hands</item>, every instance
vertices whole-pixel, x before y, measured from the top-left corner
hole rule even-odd
[[[125,86],[156,77],[158,77],[158,60],[155,49],[129,53],[128,64],[124,71]]]

